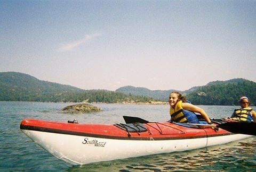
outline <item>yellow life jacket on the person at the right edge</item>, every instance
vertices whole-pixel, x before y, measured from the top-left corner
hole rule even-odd
[[[252,108],[250,107],[235,109],[231,118],[239,121],[252,121],[251,111]]]

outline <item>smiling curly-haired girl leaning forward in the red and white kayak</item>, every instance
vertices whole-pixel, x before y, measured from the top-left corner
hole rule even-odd
[[[179,92],[173,91],[169,96],[170,115],[172,122],[178,123],[199,123],[195,113],[199,113],[209,124],[212,124],[204,109],[192,105]]]

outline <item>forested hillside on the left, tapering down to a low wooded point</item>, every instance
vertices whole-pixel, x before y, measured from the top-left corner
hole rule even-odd
[[[126,95],[108,90],[83,90],[70,85],[41,81],[18,72],[0,73],[0,101],[42,102],[149,102],[145,96]]]

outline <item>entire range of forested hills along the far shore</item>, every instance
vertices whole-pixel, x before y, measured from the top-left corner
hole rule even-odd
[[[18,72],[0,73],[0,101],[43,102],[150,102],[168,101],[173,90],[149,90],[126,86],[116,91],[83,90],[70,85],[41,81]],[[238,105],[238,98],[246,96],[256,105],[256,83],[245,79],[213,81],[204,86],[179,91],[195,105]]]

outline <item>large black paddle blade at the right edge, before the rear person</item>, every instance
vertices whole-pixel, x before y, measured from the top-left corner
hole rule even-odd
[[[231,133],[256,135],[256,123],[254,122],[227,122],[219,124],[217,127]]]

